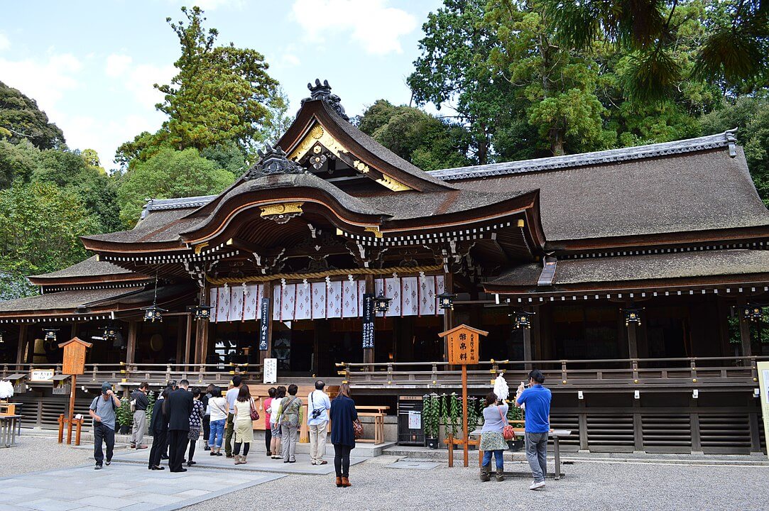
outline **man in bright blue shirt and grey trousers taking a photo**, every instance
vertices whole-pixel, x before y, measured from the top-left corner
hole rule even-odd
[[[548,433],[550,433],[550,389],[542,387],[544,375],[534,369],[529,373],[528,389],[524,383],[518,386],[515,394],[515,406],[524,406],[526,410],[526,457],[534,475],[534,483],[529,489],[544,487],[544,476],[548,474]]]

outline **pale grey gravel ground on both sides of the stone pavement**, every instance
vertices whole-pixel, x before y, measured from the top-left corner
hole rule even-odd
[[[381,464],[387,461],[351,467],[351,488],[336,488],[332,476],[291,475],[184,509],[769,509],[769,466],[578,460],[564,465],[564,479],[548,479],[544,491],[532,492],[528,478],[481,483],[477,467],[449,469],[441,464],[433,470],[395,470]],[[59,446],[55,438],[22,436],[12,449],[0,449],[2,477],[90,463],[91,450]],[[508,461],[506,468],[524,472],[527,466]]]

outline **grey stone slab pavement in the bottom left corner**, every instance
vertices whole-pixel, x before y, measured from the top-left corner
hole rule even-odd
[[[171,511],[285,477],[251,471],[150,471],[113,463],[28,473],[0,479],[0,511]]]

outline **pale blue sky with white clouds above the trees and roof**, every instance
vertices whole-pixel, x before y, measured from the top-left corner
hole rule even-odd
[[[328,80],[349,115],[379,98],[408,104],[422,24],[440,0],[0,0],[0,81],[35,99],[71,149],[115,149],[165,116],[153,84],[175,75],[165,19],[198,5],[218,43],[265,55],[294,113],[308,81]]]

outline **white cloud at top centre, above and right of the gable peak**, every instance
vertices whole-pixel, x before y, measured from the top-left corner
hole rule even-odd
[[[327,32],[350,32],[352,41],[374,55],[402,53],[400,38],[417,28],[413,15],[388,7],[388,0],[295,0],[296,22],[311,41]]]

